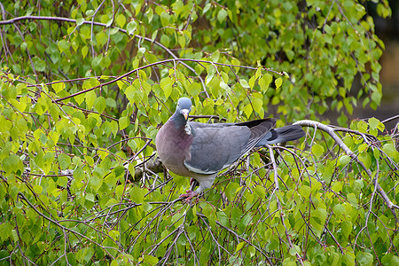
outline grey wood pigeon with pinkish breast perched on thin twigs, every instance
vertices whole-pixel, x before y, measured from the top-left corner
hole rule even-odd
[[[299,125],[273,129],[276,119],[239,123],[188,121],[190,98],[180,98],[176,112],[160,128],[155,140],[160,160],[179,176],[192,177],[200,184],[180,197],[192,199],[210,188],[217,173],[230,167],[254,147],[277,144],[305,136]]]

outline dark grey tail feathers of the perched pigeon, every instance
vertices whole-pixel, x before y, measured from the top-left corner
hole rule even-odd
[[[256,146],[283,143],[303,136],[305,136],[305,131],[302,130],[300,125],[290,125],[283,128],[271,129]]]

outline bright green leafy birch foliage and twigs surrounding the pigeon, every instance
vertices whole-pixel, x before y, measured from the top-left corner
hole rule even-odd
[[[240,161],[192,205],[178,199],[185,177],[150,167],[157,127],[182,95],[203,122],[278,106],[283,125],[328,107],[351,113],[360,97],[379,105],[383,43],[361,4],[0,5],[1,263],[399,260],[395,208],[375,189],[399,200],[397,140],[376,119],[335,129],[358,160],[309,129],[295,149]],[[386,2],[378,10],[389,15]]]

